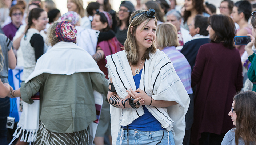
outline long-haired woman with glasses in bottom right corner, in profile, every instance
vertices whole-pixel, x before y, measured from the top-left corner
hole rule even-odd
[[[228,116],[236,127],[227,132],[221,145],[255,145],[256,93],[246,91],[235,95]]]

